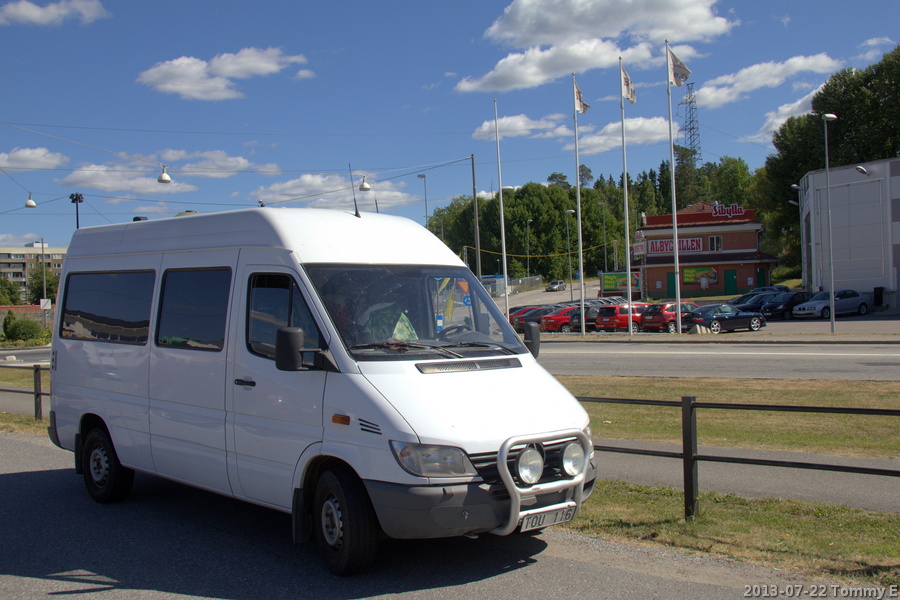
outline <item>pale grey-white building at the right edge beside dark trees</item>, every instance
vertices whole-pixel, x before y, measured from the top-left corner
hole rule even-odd
[[[833,269],[834,289],[880,289],[883,303],[893,306],[900,285],[900,159],[832,167],[827,179],[830,185],[823,169],[799,183],[804,287],[831,289]]]

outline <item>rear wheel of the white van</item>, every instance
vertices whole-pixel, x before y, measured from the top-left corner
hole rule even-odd
[[[134,484],[134,471],[122,466],[109,434],[99,427],[84,438],[81,470],[88,494],[101,504],[123,500]]]

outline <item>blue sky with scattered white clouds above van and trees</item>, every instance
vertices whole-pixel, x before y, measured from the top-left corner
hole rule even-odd
[[[900,43],[871,0],[257,0],[0,3],[0,245],[68,244],[81,226],[256,206],[416,219],[502,183],[575,179],[572,73],[591,108],[579,158],[622,170],[669,156],[665,40],[692,71],[703,161],[773,151],[843,68]],[[677,125],[684,87],[672,88]],[[839,115],[840,116],[840,115]],[[169,184],[157,183],[166,165]],[[418,175],[425,175],[424,178]],[[24,208],[29,193],[36,208]]]

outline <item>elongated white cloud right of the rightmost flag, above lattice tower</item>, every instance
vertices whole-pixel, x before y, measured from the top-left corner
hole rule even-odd
[[[777,87],[793,75],[804,72],[834,73],[841,62],[821,53],[815,56],[795,56],[784,62],[765,62],[741,69],[737,73],[722,75],[707,81],[697,91],[697,104],[718,108],[742,99],[748,92]]]

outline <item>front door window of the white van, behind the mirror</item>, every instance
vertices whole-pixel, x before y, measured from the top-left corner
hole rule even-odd
[[[281,273],[250,276],[247,299],[247,347],[250,352],[275,359],[279,327],[300,327],[307,343],[319,340],[319,330],[296,282]]]

